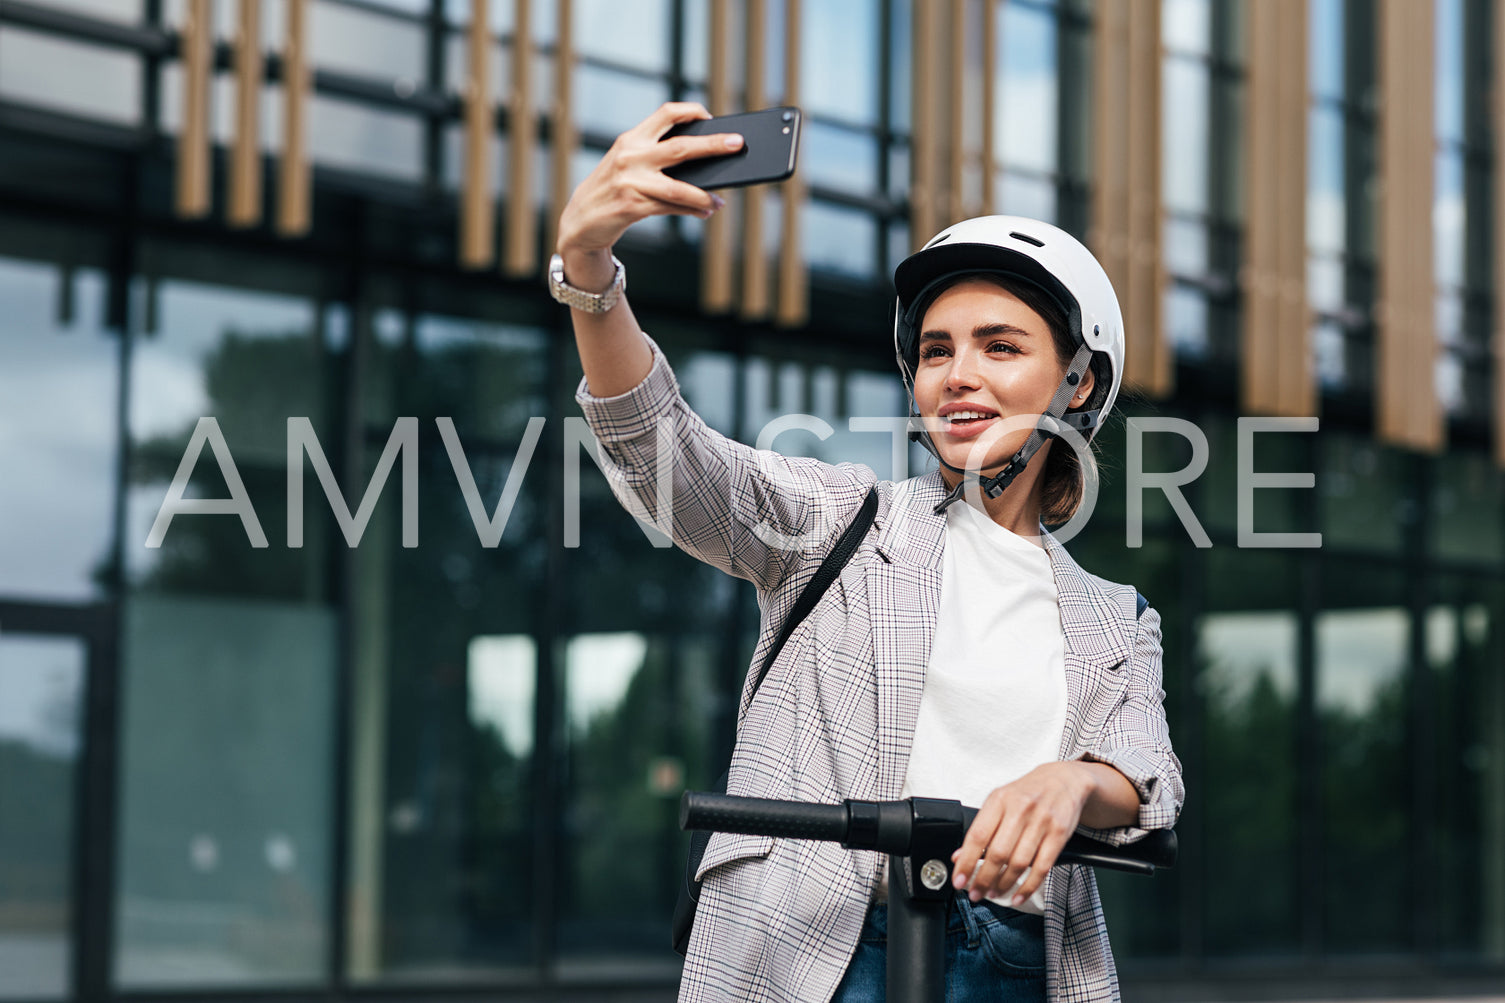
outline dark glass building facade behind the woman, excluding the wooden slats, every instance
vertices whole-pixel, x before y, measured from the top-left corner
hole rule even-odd
[[[563,2],[530,9],[540,113]],[[573,179],[661,101],[706,98],[722,2],[570,5]],[[990,95],[993,149],[966,184],[993,209],[1090,232],[1085,78],[1111,2],[957,5],[990,8],[995,65],[968,86]],[[1240,345],[1258,337],[1240,286],[1254,2],[1135,0],[1160,24],[1159,336],[1175,378],[1126,395],[1072,551],[1165,617],[1189,797],[1174,870],[1100,876],[1112,943],[1127,998],[1497,992],[1500,12],[1425,0],[1422,191],[1377,182],[1379,5],[1293,5],[1320,431],[1254,434],[1237,405]],[[268,53],[292,3],[256,5]],[[757,604],[613,500],[573,404],[569,318],[539,274],[458,261],[473,5],[307,5],[298,236],[220,211],[241,2],[208,5],[215,208],[175,208],[190,6],[0,0],[0,1000],[671,998],[677,801],[725,764]],[[885,423],[906,413],[888,276],[923,236],[924,6],[730,5],[739,26],[766,17],[766,80],[798,60],[808,319],[707,313],[698,221],[652,221],[622,247],[634,307],[710,425],[752,443],[814,416],[829,437],[774,447],[880,476],[924,468]],[[489,5],[498,104],[516,12]],[[281,74],[268,60],[269,188]],[[771,255],[780,197],[763,206]],[[1389,199],[1433,206],[1439,450],[1374,432]],[[1193,423],[1206,452],[1148,419]],[[1198,465],[1180,505],[1141,491],[1141,474]],[[238,514],[193,511],[224,498]],[[1248,545],[1249,529],[1321,542]]]

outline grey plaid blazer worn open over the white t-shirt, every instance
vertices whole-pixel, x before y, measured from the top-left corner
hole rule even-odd
[[[623,505],[652,521],[670,488],[674,544],[757,586],[754,664],[868,488],[879,491],[873,529],[841,577],[790,637],[757,699],[743,688],[728,794],[897,798],[941,602],[939,474],[879,482],[862,465],[731,441],[691,411],[658,346],[653,354],[637,389],[594,398],[581,383],[576,399]],[[1066,636],[1060,758],[1105,762],[1129,777],[1139,827],[1093,834],[1132,842],[1174,825],[1184,797],[1162,708],[1160,617],[1145,610],[1136,619],[1132,587],[1087,574],[1049,535],[1044,542]],[[879,872],[879,854],[835,843],[712,836],[680,998],[829,1000]],[[1117,1000],[1093,870],[1054,867],[1044,887],[1049,997]]]

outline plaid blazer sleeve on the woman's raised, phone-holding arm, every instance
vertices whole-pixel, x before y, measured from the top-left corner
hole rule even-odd
[[[685,402],[659,346],[649,346],[653,367],[632,390],[597,398],[581,380],[575,395],[613,494],[691,556],[774,590],[804,554],[823,553],[877,476],[721,435]]]

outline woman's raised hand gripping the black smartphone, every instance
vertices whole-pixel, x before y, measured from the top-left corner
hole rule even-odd
[[[629,226],[650,215],[707,218],[724,203],[719,196],[664,175],[665,167],[697,157],[742,148],[736,133],[676,136],[659,142],[680,122],[709,119],[700,104],[670,102],[617,137],[594,170],[575,188],[560,217],[558,252],[566,273],[570,258],[600,256]]]

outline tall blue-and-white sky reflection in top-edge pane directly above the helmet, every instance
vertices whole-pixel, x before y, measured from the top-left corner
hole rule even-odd
[[[999,12],[993,154],[1002,166],[1055,170],[1060,98],[1055,35],[1055,17],[1047,11],[1005,3]]]

